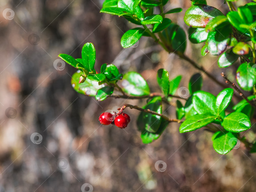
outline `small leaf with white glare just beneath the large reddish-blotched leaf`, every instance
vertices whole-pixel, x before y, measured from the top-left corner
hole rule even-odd
[[[205,32],[204,28],[193,28],[188,29],[188,39],[191,43],[202,43],[207,39],[208,33]]]

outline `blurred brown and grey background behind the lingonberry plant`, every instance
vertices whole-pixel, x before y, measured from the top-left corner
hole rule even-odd
[[[236,6],[248,2],[239,0]],[[56,62],[59,53],[80,58],[82,46],[92,42],[96,70],[103,63],[113,63],[120,72],[137,71],[152,92],[160,91],[156,83],[159,68],[167,69],[170,78],[182,75],[183,87],[198,72],[147,37],[123,49],[121,36],[134,24],[100,14],[102,3],[0,1],[0,191],[255,192],[256,156],[243,144],[222,156],[212,147],[211,133],[199,129],[180,134],[179,125],[170,123],[160,139],[144,145],[136,126],[139,111],[131,109],[125,111],[131,116],[125,129],[99,123],[102,112],[124,103],[143,106],[146,99],[98,102],[79,95],[70,85],[76,69]],[[224,14],[228,11],[223,0],[208,4]],[[172,0],[165,6],[166,10],[183,8],[168,17],[186,32],[183,16],[190,6],[189,0]],[[218,57],[201,57],[202,45],[187,41],[186,54],[220,81],[224,82],[221,72],[235,81],[239,62],[219,69]],[[204,74],[203,79],[203,90],[215,95],[221,90]],[[175,104],[165,106],[164,111],[175,117]],[[250,141],[255,139],[253,129],[245,135]],[[166,165],[166,170],[159,171],[158,164],[160,168]]]

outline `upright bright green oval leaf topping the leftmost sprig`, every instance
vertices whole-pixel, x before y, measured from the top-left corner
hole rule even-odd
[[[82,48],[83,65],[90,71],[93,71],[96,59],[96,51],[92,43],[86,43]]]

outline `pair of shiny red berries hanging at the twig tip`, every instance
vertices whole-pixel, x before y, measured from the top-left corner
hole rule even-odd
[[[126,113],[123,113],[115,117],[114,114],[105,112],[100,115],[99,121],[102,125],[109,125],[112,123],[117,127],[124,129],[125,127],[127,127],[128,123],[130,123],[131,118]]]

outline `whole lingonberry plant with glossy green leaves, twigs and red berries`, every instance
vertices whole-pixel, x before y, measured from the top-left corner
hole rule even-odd
[[[178,55],[206,74],[212,82],[223,87],[217,96],[201,90],[203,79],[199,73],[192,75],[188,84],[189,93],[178,93],[179,96],[175,94],[181,76],[170,80],[165,69],[159,69],[156,77],[162,93],[150,92],[147,82],[139,73],[130,71],[120,74],[113,64],[102,64],[100,73],[97,73],[94,69],[96,54],[92,43],[83,46],[81,59],[74,59],[66,54],[60,54],[59,57],[79,69],[71,80],[78,93],[93,96],[99,101],[108,97],[148,99],[143,107],[124,104],[118,109],[118,113],[102,113],[99,121],[104,125],[112,123],[119,128],[125,128],[131,119],[123,111],[129,107],[141,111],[137,127],[145,144],[158,139],[169,123],[176,122],[181,123],[180,133],[202,127],[213,132],[213,148],[220,154],[231,151],[238,140],[253,153],[256,152],[255,142],[249,142],[240,132],[250,129],[251,120],[255,118],[256,3],[247,3],[235,9],[234,1],[224,2],[230,9],[225,16],[220,10],[207,5],[205,0],[193,0],[192,6],[186,10],[184,21],[189,26],[188,39],[194,44],[204,42],[201,50],[203,57],[209,53],[219,56],[220,68],[229,67],[239,60],[241,64],[236,71],[239,87],[224,73],[220,74],[223,81],[217,80],[203,66],[186,56],[186,33],[178,24],[166,18],[166,15],[182,9],[164,11],[168,0],[105,0],[101,9],[101,13],[122,16],[139,26],[128,30],[122,36],[121,45],[124,48],[136,44],[142,36],[153,38],[165,51]],[[156,7],[159,9],[155,9]],[[119,81],[122,83],[119,84]],[[245,96],[242,90],[250,95]],[[242,100],[234,105],[231,102],[233,96]],[[173,97],[178,98],[176,119],[162,114],[163,103],[169,105]],[[185,105],[181,99],[186,100]]]

